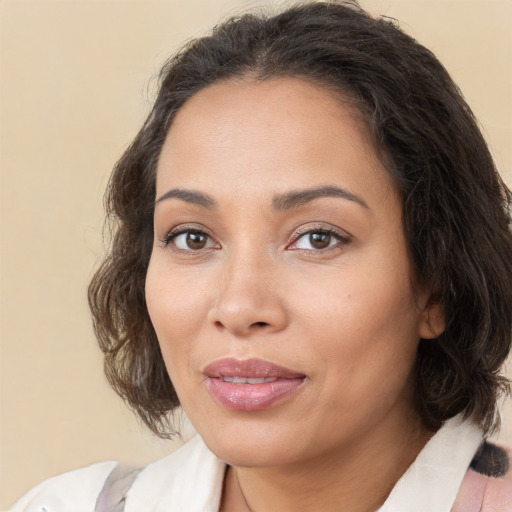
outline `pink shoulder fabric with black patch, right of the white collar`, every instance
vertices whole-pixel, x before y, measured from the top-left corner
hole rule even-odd
[[[466,472],[453,512],[512,512],[512,452],[484,442]]]

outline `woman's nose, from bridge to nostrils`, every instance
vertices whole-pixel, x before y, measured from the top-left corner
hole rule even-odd
[[[288,315],[274,267],[270,258],[261,255],[240,255],[226,261],[209,322],[242,338],[284,329]]]

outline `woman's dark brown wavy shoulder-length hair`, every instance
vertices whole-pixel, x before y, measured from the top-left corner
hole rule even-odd
[[[106,195],[110,252],[89,301],[114,389],[162,437],[178,405],[144,298],[155,172],[176,112],[208,85],[251,76],[312,80],[349,98],[403,199],[414,271],[446,318],[421,340],[416,407],[437,429],[457,414],[485,431],[508,388],[499,372],[512,336],[511,193],[475,118],[434,55],[394,21],[355,3],[305,3],[216,27],[162,69],[153,109],[117,163]]]

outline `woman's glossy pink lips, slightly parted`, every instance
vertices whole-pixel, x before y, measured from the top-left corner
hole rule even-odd
[[[260,411],[298,390],[306,375],[262,359],[220,359],[206,366],[203,374],[212,397],[235,411]],[[222,378],[273,379],[271,382],[236,384]]]

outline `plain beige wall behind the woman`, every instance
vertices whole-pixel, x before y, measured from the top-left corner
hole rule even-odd
[[[0,508],[53,474],[173,449],[138,425],[102,375],[85,298],[101,254],[102,191],[166,56],[258,3],[0,1]],[[362,3],[441,58],[510,184],[512,2]]]

